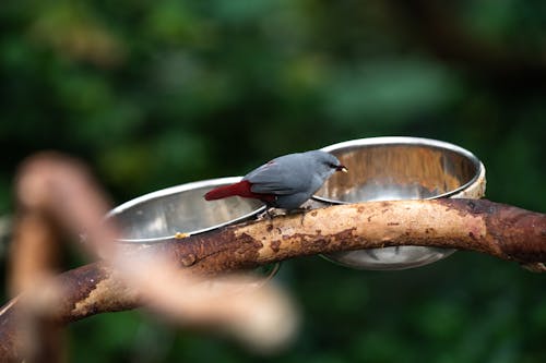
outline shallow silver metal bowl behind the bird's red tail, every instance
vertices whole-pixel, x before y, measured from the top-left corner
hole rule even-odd
[[[229,197],[206,202],[210,190],[236,183],[241,177],[211,179],[145,194],[114,208],[122,231],[121,242],[151,243],[177,233],[195,234],[254,217],[265,209],[256,199]]]

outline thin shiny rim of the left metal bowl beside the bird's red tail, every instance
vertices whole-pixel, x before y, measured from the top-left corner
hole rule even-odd
[[[188,192],[188,191],[204,187],[204,186],[214,187],[214,186],[219,186],[219,185],[224,185],[224,184],[232,184],[232,183],[236,183],[236,182],[240,181],[241,179],[242,179],[242,177],[225,177],[225,178],[206,179],[206,180],[200,180],[200,181],[189,182],[189,183],[185,183],[185,184],[179,184],[179,185],[175,185],[175,186],[169,186],[169,187],[165,187],[165,189],[162,189],[162,190],[158,190],[155,192],[146,193],[144,195],[138,196],[133,199],[124,202],[124,203],[118,205],[117,207],[112,208],[110,211],[108,211],[106,214],[105,220],[107,220],[108,218],[116,217],[116,215],[119,215],[119,214],[141,204],[141,203],[150,202],[150,201],[153,201],[155,198],[170,196],[170,195]],[[247,213],[240,217],[237,217],[237,218],[234,218],[234,219],[230,219],[230,220],[227,220],[225,222],[217,223],[214,226],[201,228],[198,230],[193,230],[193,231],[189,231],[189,232],[185,231],[185,233],[187,235],[204,233],[204,232],[207,232],[207,231],[211,231],[214,229],[218,229],[218,228],[227,226],[227,225],[232,225],[232,223],[248,219],[254,215],[260,214],[264,209],[265,209],[265,206],[263,205],[263,206],[254,209],[253,211]],[[116,241],[117,242],[128,242],[128,243],[154,243],[154,242],[165,242],[165,241],[168,241],[168,240],[171,240],[175,238],[176,238],[176,234],[147,238],[147,239],[117,239]]]

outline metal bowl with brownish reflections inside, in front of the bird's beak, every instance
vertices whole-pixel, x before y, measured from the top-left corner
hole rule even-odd
[[[314,206],[366,201],[479,198],[485,167],[468,150],[418,137],[372,137],[322,148],[349,172],[332,176],[313,196]],[[325,257],[358,269],[404,269],[430,264],[455,250],[393,246],[332,253]]]

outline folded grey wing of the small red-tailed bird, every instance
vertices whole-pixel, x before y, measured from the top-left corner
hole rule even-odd
[[[249,172],[245,179],[252,184],[250,190],[254,193],[287,195],[298,193],[301,187],[300,178],[294,178],[293,164],[277,159]]]

